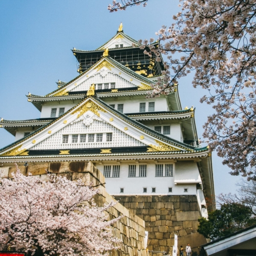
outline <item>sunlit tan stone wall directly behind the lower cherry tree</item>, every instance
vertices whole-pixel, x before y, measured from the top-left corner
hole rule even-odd
[[[100,193],[95,197],[95,202],[98,206],[104,203],[115,201],[105,191],[105,178],[101,172],[91,163],[87,161],[81,162],[56,162],[56,163],[29,163],[27,167],[19,166],[20,171],[24,175],[31,173],[38,175],[42,179],[47,175],[46,170],[56,176],[66,176],[70,180],[82,179],[85,184],[92,184],[100,189]],[[15,167],[5,167],[4,174],[7,177],[12,177],[15,172]],[[121,240],[120,249],[110,251],[111,256],[146,256],[144,245],[145,238],[145,223],[142,219],[137,217],[133,212],[127,210],[123,205],[117,203],[108,210],[109,219],[117,218],[123,215],[118,222],[114,223],[112,231],[115,237]]]

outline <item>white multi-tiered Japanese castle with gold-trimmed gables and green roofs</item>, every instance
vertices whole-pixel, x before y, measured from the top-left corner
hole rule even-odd
[[[37,119],[1,119],[15,137],[0,150],[2,166],[91,161],[113,196],[193,195],[207,216],[212,163],[198,142],[195,109],[182,108],[178,85],[146,98],[164,66],[143,51],[122,25],[96,50],[74,48],[79,74],[45,96],[27,95]]]

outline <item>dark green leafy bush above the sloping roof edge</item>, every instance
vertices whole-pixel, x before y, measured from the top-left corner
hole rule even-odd
[[[251,209],[239,203],[223,204],[220,209],[209,212],[208,220],[200,218],[198,232],[205,238],[216,240],[256,224]]]

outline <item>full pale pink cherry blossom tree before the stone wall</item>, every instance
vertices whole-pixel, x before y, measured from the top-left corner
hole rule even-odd
[[[105,210],[96,206],[99,192],[53,175],[0,178],[0,250],[35,255],[107,255],[117,248]]]

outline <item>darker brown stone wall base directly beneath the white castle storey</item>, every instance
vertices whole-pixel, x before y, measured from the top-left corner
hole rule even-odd
[[[201,214],[196,196],[115,196],[115,199],[145,221],[148,250],[172,250],[175,233],[178,247],[185,248],[189,243],[195,254],[206,244],[206,239],[197,232]]]

